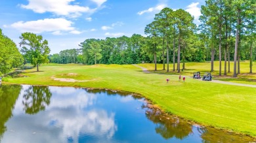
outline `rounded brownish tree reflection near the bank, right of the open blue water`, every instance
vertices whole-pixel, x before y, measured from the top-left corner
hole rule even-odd
[[[192,133],[192,125],[173,116],[167,116],[160,110],[148,109],[146,117],[156,123],[156,133],[159,133],[163,138],[179,138],[183,139]]]

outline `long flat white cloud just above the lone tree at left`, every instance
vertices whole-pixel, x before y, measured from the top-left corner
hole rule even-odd
[[[64,18],[46,18],[44,20],[30,22],[15,22],[14,24],[11,24],[11,27],[18,29],[21,32],[53,32],[53,34],[60,34],[58,31],[75,31],[75,27],[72,27],[72,24],[71,21]]]

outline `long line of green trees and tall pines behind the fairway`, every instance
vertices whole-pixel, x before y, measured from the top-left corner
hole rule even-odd
[[[147,37],[86,39],[79,49],[64,50],[51,56],[53,63],[132,64],[163,63],[163,70],[180,72],[187,61],[224,61],[224,75],[234,61],[234,77],[240,73],[240,60],[255,60],[255,0],[207,0],[202,6],[200,25],[185,10],[163,8],[154,21],[146,25]],[[182,66],[181,66],[182,63]],[[165,69],[165,65],[167,65]]]

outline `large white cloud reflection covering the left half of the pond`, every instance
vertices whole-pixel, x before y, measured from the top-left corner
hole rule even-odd
[[[7,122],[8,131],[1,142],[68,142],[68,138],[78,142],[79,135],[111,140],[117,131],[115,114],[108,114],[103,109],[88,109],[95,103],[96,95],[83,89],[50,87],[53,97],[45,111],[33,116],[24,114],[22,95],[28,87],[21,91],[13,111],[15,116]],[[67,93],[68,89],[72,92],[62,94],[61,91]]]

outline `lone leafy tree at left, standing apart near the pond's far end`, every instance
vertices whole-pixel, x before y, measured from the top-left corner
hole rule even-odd
[[[35,35],[34,33],[22,33],[20,37],[22,40],[20,46],[22,46],[21,52],[25,57],[29,58],[30,63],[37,67],[39,71],[39,64],[49,63],[47,56],[50,53],[48,41],[43,40],[41,35]]]

